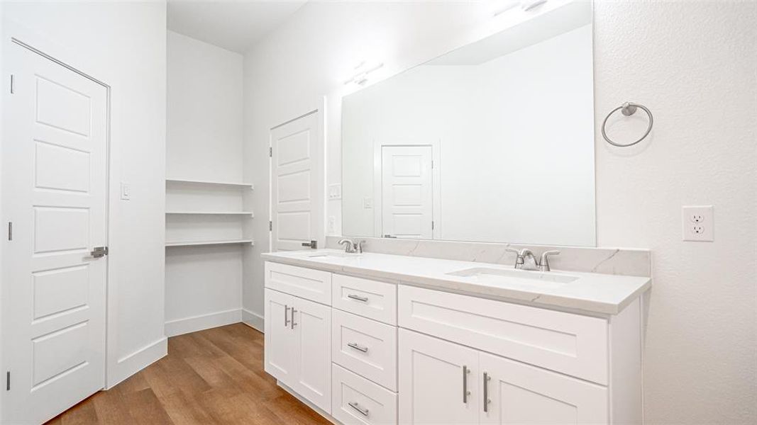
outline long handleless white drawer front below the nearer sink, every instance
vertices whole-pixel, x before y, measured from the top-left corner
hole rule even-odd
[[[400,327],[607,385],[607,321],[400,286]]]

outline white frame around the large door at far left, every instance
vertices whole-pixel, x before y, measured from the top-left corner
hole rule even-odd
[[[70,51],[69,49],[65,48],[64,46],[58,45],[54,40],[48,39],[45,36],[40,35],[39,33],[26,28],[23,25],[20,25],[19,23],[14,22],[13,20],[5,20],[3,22],[3,28],[2,28],[2,40],[0,40],[0,48],[2,48],[3,52],[10,51],[11,48],[25,48],[28,51],[32,52],[33,54],[38,54],[41,57],[44,57],[47,60],[51,60],[55,64],[60,65],[61,67],[66,68],[67,70],[73,71],[73,73],[78,74],[79,76],[83,76],[86,79],[91,80],[92,82],[97,83],[98,85],[101,85],[103,88],[105,88],[105,116],[106,116],[106,123],[105,123],[105,158],[104,158],[104,166],[105,166],[105,179],[104,182],[105,185],[105,191],[104,191],[104,221],[107,228],[107,231],[105,232],[105,244],[106,246],[111,245],[111,241],[113,240],[113,234],[112,234],[112,228],[111,228],[111,195],[113,194],[113,191],[111,191],[111,181],[114,181],[113,175],[111,173],[113,172],[113,158],[111,154],[111,85],[108,85],[105,82],[102,82],[100,79],[95,78],[94,76],[90,75],[89,73],[84,72],[81,70],[81,68],[76,67],[75,64],[83,64],[84,61],[80,59],[79,54],[76,54],[73,51]],[[0,122],[3,124],[5,123],[5,110],[8,108],[8,104],[10,102],[10,88],[9,88],[9,82],[10,82],[10,74],[11,74],[11,64],[8,63],[8,60],[6,59],[7,56],[3,58],[2,62],[2,81],[4,82],[2,84],[2,109],[0,109],[0,113],[2,113],[2,116],[0,116]],[[0,125],[0,134],[5,135],[7,129],[5,129],[5,125]],[[7,142],[8,138],[2,137],[2,143],[0,143],[0,158],[2,158],[2,153],[5,151],[5,143]],[[0,160],[0,165],[2,165],[2,160]],[[8,222],[8,220],[5,217],[5,209],[3,206],[5,205],[5,202],[7,201],[5,199],[5,194],[2,192],[2,186],[5,185],[5,181],[3,181],[3,174],[2,169],[0,169],[0,220],[2,220],[2,225],[5,227],[5,223]],[[5,247],[5,244],[0,244],[0,339],[2,339],[2,330],[5,326],[3,319],[5,318],[5,310],[3,309],[3,306],[5,304],[5,300],[2,299],[2,293],[3,285],[5,284],[6,279],[6,268],[5,268],[5,250],[3,250],[3,247]],[[111,315],[111,306],[114,305],[114,300],[111,300],[111,297],[114,296],[114,294],[111,291],[111,267],[110,267],[110,259],[109,256],[105,256],[105,299],[104,301],[104,328],[105,328],[105,346],[103,347],[104,351],[104,370],[103,370],[103,378],[104,378],[104,389],[108,389],[108,368],[111,365],[111,355],[115,352],[115,347],[113,346],[115,343],[114,338],[114,332],[110,329],[110,323],[109,320]],[[5,359],[2,358],[2,346],[0,346],[0,371],[8,371],[7,365],[5,365]],[[5,385],[5,373],[2,374],[2,383]],[[3,417],[3,406],[6,402],[6,391],[0,392],[0,420],[2,420]]]

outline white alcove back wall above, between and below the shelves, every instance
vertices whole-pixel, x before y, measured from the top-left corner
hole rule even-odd
[[[167,49],[167,175],[241,181],[241,54],[172,31]],[[171,186],[167,209],[241,210],[243,190]],[[239,217],[171,216],[168,220],[168,240],[241,238],[244,227]],[[167,249],[169,336],[241,320],[244,250],[238,245]]]

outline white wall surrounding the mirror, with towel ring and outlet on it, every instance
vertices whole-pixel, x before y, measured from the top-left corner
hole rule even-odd
[[[267,209],[268,129],[329,96],[327,181],[339,181],[338,92],[360,60],[375,78],[476,39],[478,5],[308,4],[245,55],[245,172]],[[595,123],[623,101],[656,114],[650,141],[595,135],[600,246],[653,250],[645,352],[647,423],[755,423],[755,4],[597,2]],[[480,25],[466,27],[466,23]],[[366,57],[369,56],[369,57]],[[335,118],[336,117],[336,118]],[[614,127],[631,139],[643,122]],[[597,126],[595,126],[597,128]],[[681,242],[681,205],[715,205],[715,243]],[[329,203],[327,214],[338,217]],[[257,222],[260,242],[267,223]],[[245,308],[263,311],[257,253]]]

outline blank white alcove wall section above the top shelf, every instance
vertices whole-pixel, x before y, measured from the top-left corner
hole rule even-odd
[[[166,175],[242,178],[241,54],[168,31]]]

